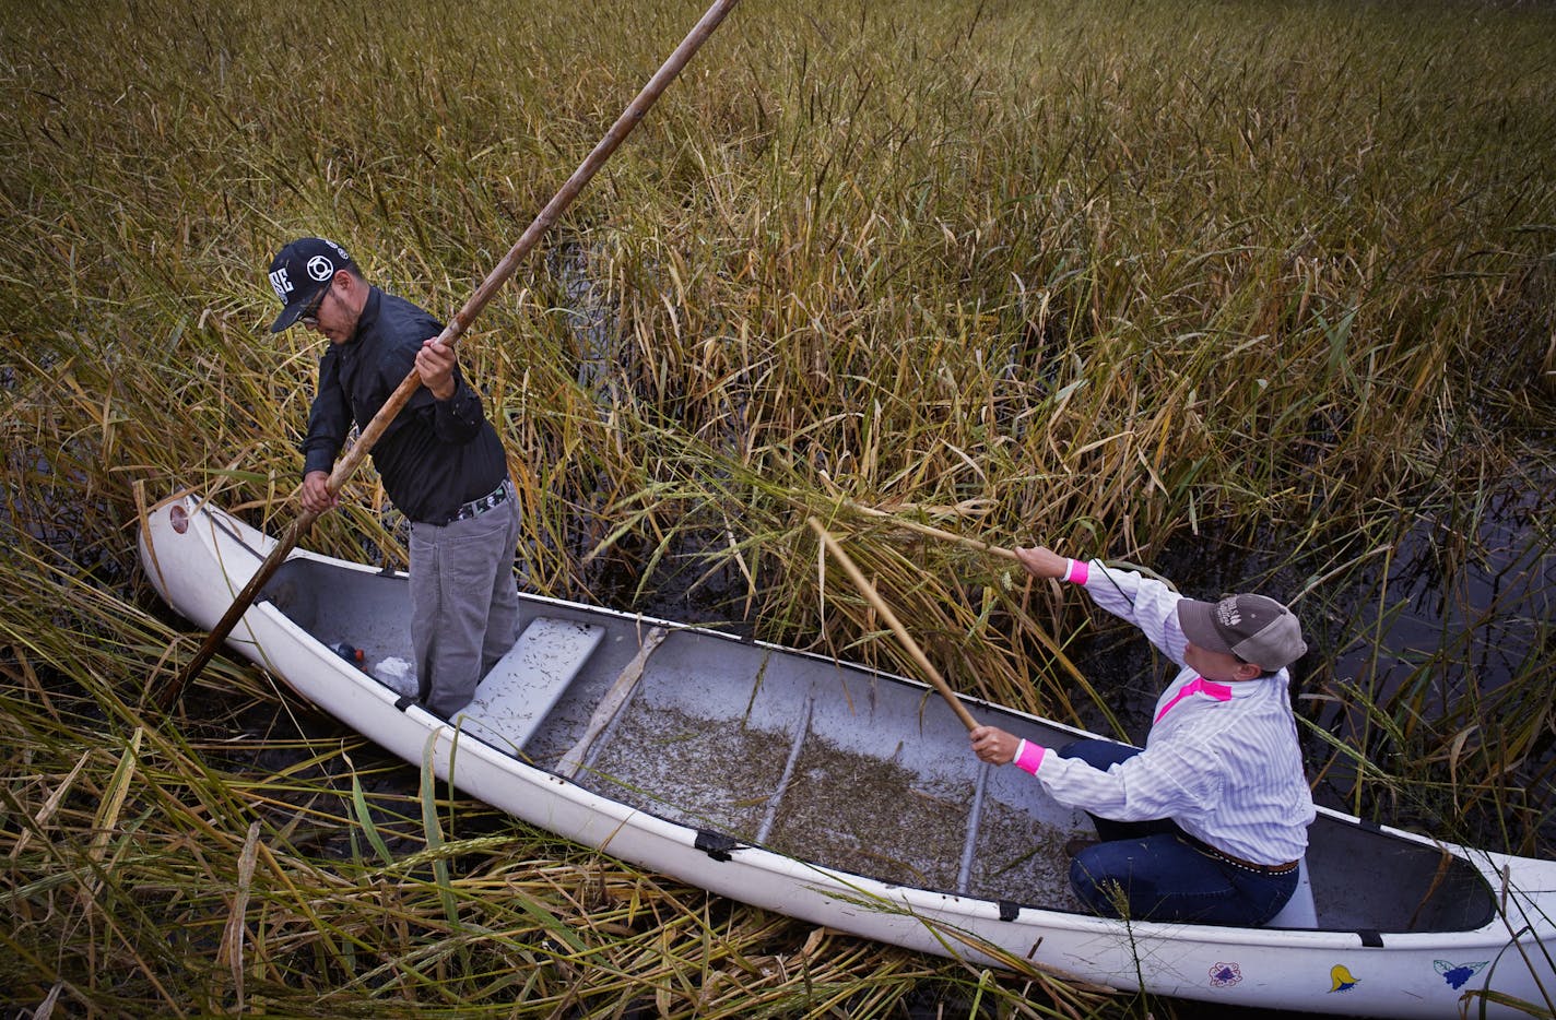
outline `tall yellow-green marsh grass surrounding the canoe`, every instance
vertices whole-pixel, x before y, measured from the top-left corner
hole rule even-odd
[[[151,707],[199,634],[137,574],[137,507],[193,485],[258,526],[294,513],[317,342],[265,333],[271,253],[336,238],[450,314],[700,12],[0,14],[11,1004],[1172,1009],[666,885],[423,790],[237,661]],[[818,568],[817,515],[951,683],[1139,737],[1103,681],[1116,631],[854,507],[1178,550],[1200,594],[1181,550],[1235,549],[1254,566],[1215,582],[1298,597],[1318,636],[1330,799],[1548,857],[1553,67],[1556,14],[1530,3],[747,0],[464,341],[523,490],[524,583],[912,673]],[[403,563],[370,473],[347,496],[308,544]],[[1377,645],[1422,522],[1463,592],[1509,519],[1531,594]],[[1522,651],[1492,686],[1494,624]],[[1385,659],[1410,669],[1383,683]]]

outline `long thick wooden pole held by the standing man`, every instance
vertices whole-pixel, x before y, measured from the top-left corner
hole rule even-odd
[[[584,190],[584,185],[590,182],[596,171],[605,165],[605,160],[616,151],[616,146],[619,146],[632,129],[638,126],[638,121],[649,112],[654,101],[660,98],[660,93],[664,92],[682,68],[686,67],[692,54],[697,53],[697,48],[702,47],[708,36],[713,34],[713,30],[719,26],[736,3],[738,0],[716,0],[716,3],[708,8],[708,12],[703,14],[702,20],[697,22],[691,33],[686,34],[686,39],[683,39],[675,48],[675,53],[664,61],[660,70],[655,72],[654,78],[643,86],[643,90],[638,92],[636,98],[627,104],[627,109],[622,110],[621,117],[616,118],[616,123],[610,126],[610,131],[607,131],[605,137],[599,140],[594,151],[590,152],[582,163],[579,163],[579,168],[573,171],[573,176],[566,179],[566,183],[562,185],[555,196],[546,202],[546,207],[540,210],[540,215],[529,224],[529,229],[518,238],[518,243],[509,249],[507,255],[503,257],[503,261],[499,261],[481,286],[476,288],[476,292],[470,295],[465,306],[454,313],[453,322],[443,327],[442,334],[437,337],[440,342],[450,347],[459,344],[459,337],[470,328],[470,323],[478,314],[481,314],[481,309],[492,300],[492,295],[496,294],[498,288],[507,283],[509,277],[513,275],[513,271],[518,269],[518,263],[529,255],[529,250],[535,247],[540,236],[562,216],[562,211],[573,202],[574,197],[577,197],[577,193]],[[389,400],[384,401],[384,406],[380,407],[378,414],[373,415],[373,420],[367,423],[367,428],[361,431],[345,456],[335,463],[335,470],[330,473],[330,491],[341,491],[341,487],[363,463],[363,459],[367,457],[369,451],[372,451],[373,443],[378,442],[378,437],[383,435],[386,428],[389,428],[389,423],[394,421],[395,415],[400,414],[420,384],[420,375],[412,369]],[[243,591],[238,592],[238,597],[232,600],[226,616],[223,616],[221,620],[216,622],[216,627],[212,628],[210,634],[205,636],[205,642],[199,647],[199,651],[194,653],[194,658],[190,659],[174,681],[168,684],[166,690],[163,690],[159,698],[163,709],[171,707],[173,703],[177,701],[179,695],[184,693],[184,687],[188,686],[190,679],[198,676],[205,664],[210,662],[216,648],[221,647],[221,642],[227,639],[232,628],[237,627],[243,614],[247,613],[255,596],[261,588],[265,588],[265,585],[271,580],[271,575],[275,574],[277,568],[280,568],[286,557],[291,555],[291,550],[297,547],[297,541],[308,533],[308,529],[313,527],[313,522],[317,518],[317,512],[303,510],[302,515],[293,521],[293,526],[286,529],[280,543],[271,550],[271,555],[265,558],[260,569],[254,574],[249,583],[244,585]]]

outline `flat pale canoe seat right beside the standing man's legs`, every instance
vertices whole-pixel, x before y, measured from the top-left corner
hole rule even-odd
[[[459,714],[459,728],[499,748],[518,751],[599,647],[605,628],[535,617],[496,665],[476,684]]]

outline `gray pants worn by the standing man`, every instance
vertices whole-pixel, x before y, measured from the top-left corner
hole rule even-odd
[[[411,647],[417,700],[445,718],[518,639],[518,501],[482,515],[411,526]]]

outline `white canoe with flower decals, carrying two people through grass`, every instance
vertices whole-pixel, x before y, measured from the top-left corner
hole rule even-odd
[[[140,535],[210,628],[274,540],[191,496]],[[1321,810],[1298,902],[1265,928],[1078,910],[1083,815],[988,768],[932,689],[705,628],[523,596],[513,651],[453,723],[369,667],[411,659],[405,574],[294,550],[229,645],[406,762],[560,837],[820,925],[980,964],[1207,1003],[1369,1017],[1526,1015],[1556,997],[1556,863]],[[968,700],[1044,745],[1083,731]],[[1310,894],[1310,899],[1307,899]],[[1305,911],[1305,916],[1304,916]]]

